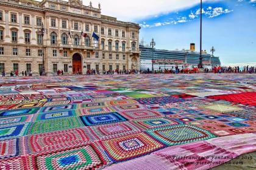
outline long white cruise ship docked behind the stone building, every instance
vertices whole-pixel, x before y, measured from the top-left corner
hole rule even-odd
[[[194,48],[193,48],[194,49]],[[149,68],[154,70],[175,69],[177,65],[182,68],[193,68],[199,64],[199,52],[191,50],[187,51],[168,51],[160,49],[152,49],[149,46],[140,45],[140,64],[141,70],[145,71]],[[202,63],[204,68],[211,69],[212,66],[221,65],[219,57],[210,54],[202,54]],[[153,63],[153,64],[152,64]]]

